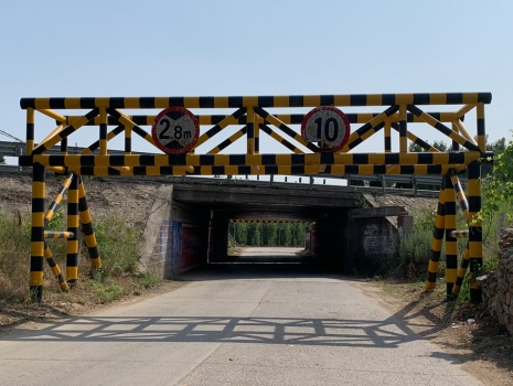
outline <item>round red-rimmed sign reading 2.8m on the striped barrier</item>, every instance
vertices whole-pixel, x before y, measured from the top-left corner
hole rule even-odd
[[[151,136],[157,147],[168,154],[182,154],[197,141],[200,124],[196,117],[183,107],[168,107],[153,121]]]

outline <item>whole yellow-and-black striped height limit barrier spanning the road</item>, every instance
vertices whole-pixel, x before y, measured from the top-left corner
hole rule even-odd
[[[22,98],[21,108],[26,110],[26,151],[25,156],[19,158],[19,164],[33,168],[32,297],[36,301],[42,300],[45,257],[61,288],[65,290],[76,282],[79,223],[92,269],[101,267],[82,180],[84,175],[446,175],[440,190],[426,290],[435,288],[441,240],[446,238],[446,255],[450,260],[446,277],[448,293],[457,292],[461,285],[461,272],[464,275],[462,267],[469,265],[472,274],[475,267],[482,265],[481,223],[477,213],[481,210],[480,162],[493,156],[485,152],[484,125],[484,105],[490,104],[491,99],[490,93]],[[376,112],[343,112],[345,108],[372,106],[376,107]],[[445,107],[443,111],[431,111],[424,106]],[[446,111],[446,106],[455,106],[453,111]],[[302,112],[304,108],[311,108],[310,112]],[[141,110],[143,114],[130,115],[124,111],[126,109]],[[199,114],[202,109],[232,112]],[[84,114],[65,115],[57,110],[84,110]],[[464,120],[471,110],[475,110],[477,116],[474,135],[470,133]],[[35,143],[35,112],[56,122],[55,129],[46,137],[39,133],[38,138],[43,138],[39,143]],[[425,124],[423,132],[436,130],[450,139],[453,151],[438,151],[418,133],[414,135],[409,128],[417,124]],[[79,154],[68,153],[70,136],[78,130],[90,131],[92,126],[98,127],[97,140],[84,147],[86,149]],[[145,129],[145,126],[151,127],[151,130]],[[221,132],[234,126],[236,128],[225,136],[227,138],[215,141],[215,136],[220,138]],[[381,152],[354,151],[382,129]],[[108,141],[121,133],[125,135],[125,154],[109,154]],[[286,152],[266,153],[260,146],[263,133],[284,146]],[[156,151],[133,154],[132,135],[141,137]],[[393,135],[397,137],[395,146]],[[228,153],[227,148],[244,137],[246,151]],[[415,142],[424,151],[408,152],[408,141]],[[62,154],[49,154],[49,149],[57,144],[61,144]],[[204,151],[202,146],[209,150]],[[394,147],[398,151],[393,152]],[[457,174],[466,170],[469,174],[468,201],[457,181]],[[44,211],[45,171],[67,175],[60,191],[61,196],[57,194],[47,212]],[[45,218],[51,217],[65,191],[68,191],[68,221],[67,229],[60,235],[65,236],[67,243],[66,280],[44,242],[45,235],[50,236],[45,234]],[[455,194],[461,207],[467,205],[464,213],[469,224],[468,248],[460,269],[457,266],[453,233]],[[461,197],[464,197],[464,203]],[[481,299],[474,280],[471,296],[473,302]]]

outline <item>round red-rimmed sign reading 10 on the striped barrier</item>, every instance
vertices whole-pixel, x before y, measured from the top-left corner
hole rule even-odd
[[[301,136],[308,142],[319,142],[321,151],[333,152],[348,142],[351,126],[341,110],[331,106],[316,107],[301,124]]]

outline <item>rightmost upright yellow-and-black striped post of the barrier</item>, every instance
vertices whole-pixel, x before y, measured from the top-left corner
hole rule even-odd
[[[470,259],[470,302],[478,304],[482,301],[481,288],[475,281],[483,265],[483,245],[481,221],[478,212],[481,211],[481,165],[479,161],[469,163],[469,259]]]

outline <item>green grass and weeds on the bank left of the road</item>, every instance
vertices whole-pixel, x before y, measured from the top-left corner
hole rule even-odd
[[[65,207],[65,206],[64,206]],[[103,268],[90,271],[85,242],[81,248],[79,280],[75,289],[62,293],[44,262],[45,297],[58,294],[61,301],[108,303],[136,286],[151,288],[160,282],[154,271],[138,272],[141,228],[127,226],[118,216],[94,223]],[[49,223],[50,230],[65,230],[66,216],[62,206]],[[30,214],[0,213],[0,299],[11,303],[29,301]],[[54,259],[65,274],[66,242],[47,239]],[[89,300],[87,300],[89,299]]]

